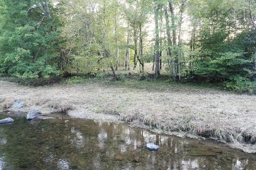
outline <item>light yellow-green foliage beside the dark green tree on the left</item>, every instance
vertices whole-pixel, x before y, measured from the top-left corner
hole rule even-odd
[[[97,13],[92,4],[97,4]],[[59,30],[68,51],[68,72],[87,74],[123,60],[126,47],[118,1],[63,0],[58,8],[64,9],[60,18],[65,25]]]

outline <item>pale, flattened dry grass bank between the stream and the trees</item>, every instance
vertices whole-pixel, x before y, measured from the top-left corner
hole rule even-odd
[[[124,120],[216,138],[233,148],[256,153],[255,95],[184,85],[135,88],[130,83],[28,87],[0,81],[0,111],[13,110],[12,103],[22,99],[25,107],[20,111],[38,108],[44,114],[68,111],[73,117]]]

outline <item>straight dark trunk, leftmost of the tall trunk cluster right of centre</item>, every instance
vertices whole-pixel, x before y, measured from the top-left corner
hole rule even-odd
[[[160,75],[160,49],[159,49],[159,44],[160,44],[160,38],[159,38],[159,5],[154,5],[154,12],[155,12],[155,34],[156,34],[156,42],[155,42],[155,49],[156,49],[156,54],[155,54],[155,60],[156,60],[156,66],[155,66],[155,79],[157,79]]]

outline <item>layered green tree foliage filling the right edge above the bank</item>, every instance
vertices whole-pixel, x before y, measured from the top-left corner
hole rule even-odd
[[[256,32],[245,16],[253,14],[256,3],[251,9],[246,1],[232,0],[198,0],[189,5],[189,14],[196,20],[194,27],[200,25],[200,30],[190,41],[194,43],[189,54],[193,66],[188,72],[207,81],[221,82],[228,89],[252,92]]]

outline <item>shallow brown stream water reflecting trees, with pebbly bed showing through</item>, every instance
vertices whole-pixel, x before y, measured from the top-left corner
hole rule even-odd
[[[55,115],[0,125],[2,169],[256,169],[256,155],[211,140],[159,135],[127,124]],[[156,152],[146,143],[160,145]]]

